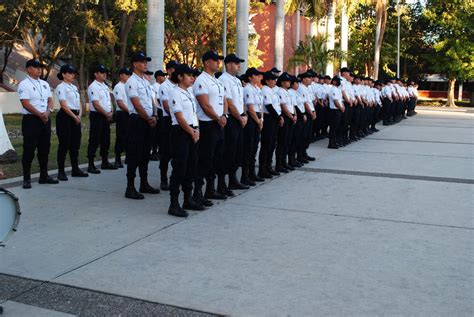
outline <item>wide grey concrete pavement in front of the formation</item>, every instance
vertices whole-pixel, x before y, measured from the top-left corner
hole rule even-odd
[[[474,114],[418,112],[186,220],[123,170],[13,187],[5,316],[472,316]]]

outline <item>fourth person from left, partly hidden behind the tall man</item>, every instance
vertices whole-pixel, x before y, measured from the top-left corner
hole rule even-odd
[[[113,89],[113,95],[117,106],[115,110],[115,167],[123,168],[122,153],[125,152],[127,146],[128,119],[130,118],[130,113],[128,112],[128,98],[125,92],[125,83],[132,75],[132,71],[128,68],[122,68],[119,70],[118,74],[120,81]]]

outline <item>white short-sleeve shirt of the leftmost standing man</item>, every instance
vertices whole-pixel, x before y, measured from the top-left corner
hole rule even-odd
[[[33,79],[27,76],[18,85],[18,95],[20,100],[28,100],[30,104],[39,112],[44,113],[48,110],[48,98],[51,95],[49,84],[42,79]],[[23,108],[22,114],[31,114]]]

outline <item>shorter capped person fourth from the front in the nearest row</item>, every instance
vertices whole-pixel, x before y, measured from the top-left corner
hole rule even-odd
[[[248,82],[244,87],[244,104],[248,121],[244,127],[242,177],[240,182],[248,186],[255,186],[256,182],[264,181],[255,171],[260,132],[263,128],[263,96],[259,88],[263,73],[255,67],[251,67],[247,69],[244,76]]]

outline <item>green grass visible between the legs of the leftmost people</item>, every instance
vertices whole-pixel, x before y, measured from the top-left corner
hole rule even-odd
[[[18,154],[18,161],[13,164],[4,164],[0,168],[5,173],[5,178],[12,178],[23,175],[21,167],[21,157],[23,154],[23,138],[21,137],[21,115],[20,114],[5,114],[3,115],[5,121],[5,127],[8,132],[13,132],[15,137],[10,138],[13,147],[15,148],[16,153]],[[53,113],[51,116],[51,128],[55,130],[56,127],[56,113]],[[87,129],[87,130],[85,130]],[[87,143],[89,140],[89,117],[82,117],[82,139],[81,139],[81,148],[79,150],[79,164],[87,163]],[[109,157],[115,157],[113,153],[113,147],[115,145],[115,124],[112,124],[110,127],[110,154]],[[57,169],[58,164],[56,162],[58,151],[58,137],[55,132],[51,134],[51,149],[49,151],[49,163],[48,169]],[[99,150],[97,149],[98,158]],[[66,158],[66,166],[70,166],[69,156]],[[39,172],[38,160],[35,157],[33,160],[33,165],[31,166],[31,174]]]

